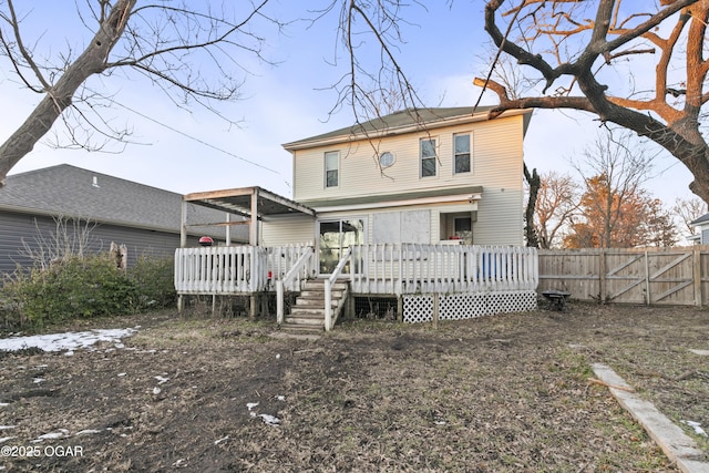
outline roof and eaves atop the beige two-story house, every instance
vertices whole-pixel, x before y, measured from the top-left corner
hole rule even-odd
[[[302,150],[312,146],[336,144],[354,140],[390,136],[401,133],[411,133],[423,130],[433,130],[456,123],[470,123],[485,121],[487,112],[495,106],[453,106],[438,109],[407,109],[389,115],[376,117],[368,122],[335,130],[308,138],[286,143],[282,146],[287,151]],[[532,111],[511,110],[502,116],[524,115],[524,131],[526,132]]]

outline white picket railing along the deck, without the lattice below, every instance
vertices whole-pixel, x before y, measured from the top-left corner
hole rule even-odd
[[[278,248],[217,246],[175,251],[178,294],[253,294],[299,291],[315,276],[312,246]],[[308,263],[302,263],[307,260]],[[535,248],[513,246],[381,244],[351,247],[342,268],[353,294],[455,294],[534,290],[538,282]]]

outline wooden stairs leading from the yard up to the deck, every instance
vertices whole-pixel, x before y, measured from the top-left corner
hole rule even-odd
[[[343,281],[336,282],[332,285],[331,294],[332,320],[335,321],[345,308],[346,299],[349,296],[349,285]],[[322,333],[325,330],[325,279],[310,279],[306,282],[280,328],[299,335]]]

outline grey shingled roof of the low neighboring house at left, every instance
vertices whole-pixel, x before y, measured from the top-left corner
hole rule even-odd
[[[86,218],[97,223],[179,233],[182,195],[69,164],[13,174],[0,187],[0,210]],[[192,206],[188,222],[223,218]]]

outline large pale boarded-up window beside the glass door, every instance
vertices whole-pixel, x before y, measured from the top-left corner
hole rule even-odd
[[[431,212],[387,212],[372,218],[373,243],[431,243]]]

